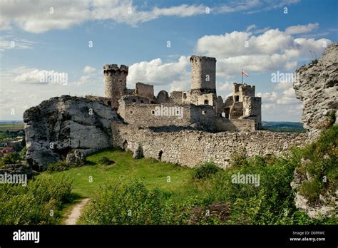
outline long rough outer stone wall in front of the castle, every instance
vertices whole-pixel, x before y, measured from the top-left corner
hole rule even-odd
[[[181,130],[172,133],[155,133],[138,130],[127,125],[111,125],[113,144],[135,151],[140,146],[145,157],[165,162],[195,167],[200,162],[213,161],[222,168],[230,165],[235,151],[245,150],[248,157],[254,155],[280,154],[291,145],[302,145],[305,134],[272,133],[270,131],[240,133],[205,133]]]

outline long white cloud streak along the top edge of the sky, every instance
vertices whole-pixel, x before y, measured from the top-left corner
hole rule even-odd
[[[277,0],[267,3],[242,0],[212,6],[203,4],[181,4],[164,8],[153,6],[152,9],[144,10],[131,0],[8,0],[0,1],[0,30],[9,30],[16,25],[31,33],[43,33],[52,29],[68,29],[76,24],[96,20],[137,26],[161,16],[196,16],[208,14],[207,10],[210,14],[224,14],[248,11],[252,8],[264,9],[263,6],[275,6],[277,2]]]

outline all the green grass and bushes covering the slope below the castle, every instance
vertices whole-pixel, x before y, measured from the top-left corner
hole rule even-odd
[[[290,186],[297,169],[314,178],[302,182],[299,190],[312,204],[320,203],[320,194],[334,193],[337,137],[336,125],[324,130],[317,142],[292,148],[284,156],[249,159],[236,153],[228,170],[212,162],[190,169],[101,150],[88,155],[86,165],[43,172],[26,188],[0,185],[0,223],[60,223],[67,202],[89,197],[81,224],[337,224],[334,216],[311,219],[297,210]],[[304,165],[304,160],[310,162]],[[234,175],[259,175],[260,180],[234,183]],[[323,175],[326,182],[319,180]]]

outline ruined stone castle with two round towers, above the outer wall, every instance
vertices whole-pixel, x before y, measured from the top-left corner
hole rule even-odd
[[[233,93],[223,101],[216,92],[216,59],[191,56],[190,91],[160,91],[136,83],[127,89],[128,66],[103,66],[105,97],[100,100],[117,111],[123,121],[138,128],[193,128],[209,132],[259,130],[262,128],[261,98],[255,86],[233,83]]]

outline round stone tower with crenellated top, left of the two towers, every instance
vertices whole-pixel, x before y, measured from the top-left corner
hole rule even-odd
[[[105,95],[111,98],[113,108],[118,108],[118,100],[126,94],[128,66],[106,64],[103,66],[105,76]]]

